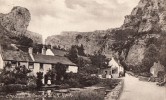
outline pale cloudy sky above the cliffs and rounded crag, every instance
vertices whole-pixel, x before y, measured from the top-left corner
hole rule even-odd
[[[61,31],[94,31],[119,27],[139,0],[0,0],[0,12],[13,6],[29,9],[28,30],[43,38]]]

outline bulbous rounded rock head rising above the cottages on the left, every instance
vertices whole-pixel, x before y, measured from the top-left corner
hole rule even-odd
[[[1,25],[16,34],[25,34],[31,20],[30,12],[26,8],[14,7],[10,13],[1,17]]]

